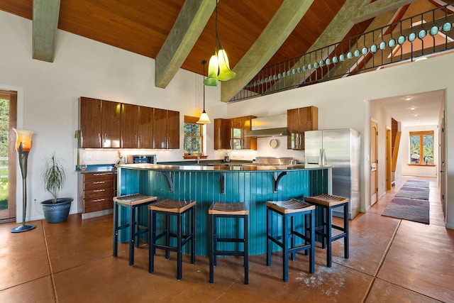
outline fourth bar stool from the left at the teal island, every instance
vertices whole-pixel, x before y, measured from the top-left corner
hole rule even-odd
[[[315,246],[314,246],[314,226],[315,226],[315,206],[297,199],[274,202],[268,201],[267,205],[267,266],[271,265],[272,243],[276,243],[282,248],[282,280],[289,280],[289,253],[292,260],[295,260],[295,253],[300,250],[309,250],[309,272],[315,271]],[[282,235],[272,235],[272,214],[282,216]],[[295,230],[294,219],[297,216],[304,216],[303,232]],[[290,224],[287,220],[290,219]],[[290,228],[289,228],[290,225]],[[278,228],[279,229],[279,228]],[[296,237],[304,242],[296,245]],[[290,241],[289,241],[290,240]]]

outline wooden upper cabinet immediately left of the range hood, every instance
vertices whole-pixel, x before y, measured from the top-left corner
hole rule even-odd
[[[251,129],[251,119],[255,116],[243,116],[233,119],[214,119],[214,149],[245,150],[257,149],[257,138],[246,135]]]

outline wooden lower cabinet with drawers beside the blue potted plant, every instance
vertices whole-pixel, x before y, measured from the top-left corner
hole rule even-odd
[[[116,172],[87,172],[79,178],[84,206],[82,219],[109,214],[116,197]],[[95,213],[97,214],[90,214]]]

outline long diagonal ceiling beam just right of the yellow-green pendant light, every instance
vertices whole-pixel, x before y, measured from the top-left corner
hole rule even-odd
[[[314,0],[284,0],[248,52],[235,65],[236,77],[221,84],[221,101],[228,102],[248,84],[287,40]]]

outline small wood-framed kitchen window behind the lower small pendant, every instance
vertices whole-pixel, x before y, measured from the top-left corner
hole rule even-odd
[[[204,150],[204,134],[201,124],[197,124],[199,118],[192,116],[184,116],[184,156],[190,158],[196,156],[197,153],[202,153]],[[186,158],[186,157],[185,157]]]

